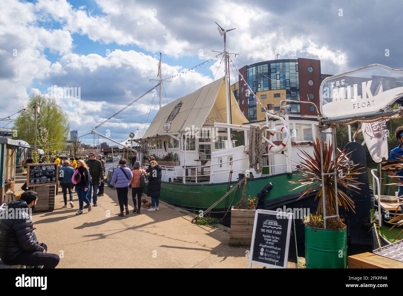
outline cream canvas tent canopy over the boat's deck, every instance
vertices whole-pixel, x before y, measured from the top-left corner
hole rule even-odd
[[[232,124],[248,122],[239,109],[232,91],[230,95]],[[170,123],[171,128],[168,132],[172,133],[183,132],[185,128],[191,128],[192,125],[195,128],[201,128],[205,123],[226,123],[224,77],[161,107],[143,139],[166,132],[163,128],[165,122]]]

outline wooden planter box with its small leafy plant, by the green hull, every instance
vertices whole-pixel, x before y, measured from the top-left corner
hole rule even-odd
[[[254,197],[241,200],[231,207],[231,233],[229,244],[231,246],[250,246],[252,240],[253,223],[258,205],[258,198]]]

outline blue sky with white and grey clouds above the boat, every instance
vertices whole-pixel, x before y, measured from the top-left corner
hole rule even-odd
[[[54,95],[70,129],[84,135],[156,85],[160,52],[162,78],[209,60],[164,83],[164,105],[224,76],[221,58],[210,60],[223,50],[215,22],[236,28],[227,48],[239,54],[238,69],[276,54],[320,59],[323,74],[403,68],[402,8],[398,0],[0,0],[0,116],[21,110],[32,93]],[[76,88],[78,98],[55,86]],[[145,95],[97,131],[126,140],[147,128],[158,100],[158,92]]]

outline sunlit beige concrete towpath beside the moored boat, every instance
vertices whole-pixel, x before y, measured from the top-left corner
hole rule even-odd
[[[60,255],[58,268],[246,268],[249,247],[232,247],[229,228],[198,226],[193,214],[160,201],[160,210],[118,217],[116,190],[105,186],[98,207],[91,212],[62,208],[62,193],[56,195],[52,212],[34,213],[39,242]],[[257,266],[254,266],[257,267]],[[289,267],[293,267],[289,263]]]

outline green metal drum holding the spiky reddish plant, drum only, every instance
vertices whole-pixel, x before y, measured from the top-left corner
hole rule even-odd
[[[332,230],[305,225],[305,267],[347,268],[347,228]]]

